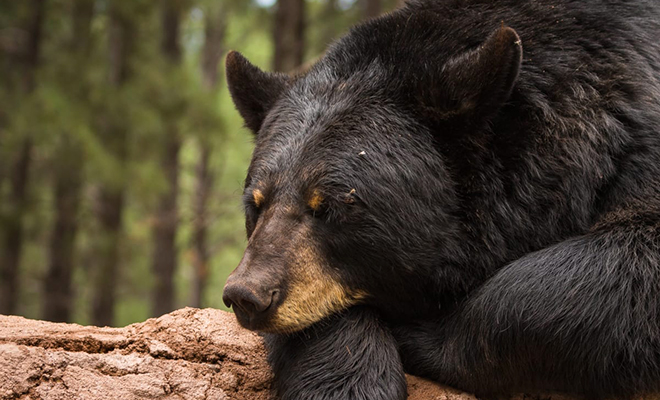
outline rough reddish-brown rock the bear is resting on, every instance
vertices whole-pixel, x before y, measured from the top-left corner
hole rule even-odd
[[[125,328],[0,316],[0,400],[265,400],[265,356],[261,339],[219,310]],[[408,390],[409,400],[474,400],[413,376]]]

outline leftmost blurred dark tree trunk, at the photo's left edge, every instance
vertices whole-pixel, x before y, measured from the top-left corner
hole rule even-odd
[[[30,16],[25,31],[27,33],[27,49],[16,64],[22,68],[22,91],[25,94],[33,92],[36,81],[36,71],[39,67],[39,56],[42,42],[42,26],[45,13],[45,0],[30,0],[26,2]],[[0,313],[14,314],[18,305],[19,280],[18,268],[23,249],[23,216],[27,203],[27,187],[29,167],[32,156],[32,139],[24,139],[18,157],[8,172],[10,193],[7,199],[9,213],[5,223],[4,251],[0,260]]]

